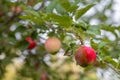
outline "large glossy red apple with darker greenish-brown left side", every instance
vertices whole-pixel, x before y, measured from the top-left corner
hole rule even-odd
[[[75,52],[75,60],[82,67],[94,64],[96,62],[96,52],[91,47],[81,46]]]

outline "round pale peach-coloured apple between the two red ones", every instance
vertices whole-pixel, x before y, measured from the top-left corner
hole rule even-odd
[[[61,48],[61,41],[56,37],[50,37],[45,42],[45,49],[51,54],[56,54],[56,52]]]

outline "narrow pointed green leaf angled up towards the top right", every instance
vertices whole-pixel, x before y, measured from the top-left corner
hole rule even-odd
[[[91,7],[93,7],[95,4],[90,4],[82,9],[79,9],[78,11],[76,11],[75,13],[75,19],[79,19],[83,14],[85,14]]]

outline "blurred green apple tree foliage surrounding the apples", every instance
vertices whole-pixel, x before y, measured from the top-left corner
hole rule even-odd
[[[90,3],[86,0],[1,0],[0,79],[6,73],[6,66],[14,63],[14,58],[21,58],[24,63],[17,70],[17,80],[24,77],[39,80],[42,72],[46,72],[50,80],[73,80],[70,79],[73,74],[77,76],[75,80],[84,80],[89,71],[108,67],[120,74],[120,26],[108,23],[109,16],[104,14],[105,10],[111,9],[112,2],[103,12],[96,11],[92,16],[85,16],[99,3],[100,0],[91,0]],[[18,6],[22,11],[12,12],[12,6]],[[100,24],[90,24],[93,18],[98,19]],[[51,36],[62,42],[62,49],[55,56],[48,54],[44,48],[45,40]],[[27,50],[26,37],[37,41],[36,48]],[[99,65],[79,67],[83,71],[64,71],[63,65],[76,65],[74,52],[86,42],[96,50]]]

